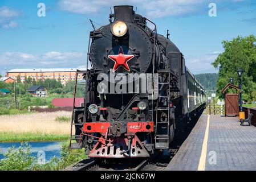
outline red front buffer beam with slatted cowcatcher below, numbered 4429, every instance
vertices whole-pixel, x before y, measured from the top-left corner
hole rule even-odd
[[[136,133],[154,131],[153,122],[126,122],[120,133],[120,122],[84,123],[83,134],[100,133],[101,137],[91,150],[90,158],[148,158],[149,153]],[[91,136],[94,137],[94,136]]]

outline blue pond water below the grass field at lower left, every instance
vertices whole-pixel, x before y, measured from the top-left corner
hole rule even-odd
[[[52,157],[60,158],[60,150],[62,148],[62,142],[27,142],[31,146],[31,155],[38,156],[38,152],[45,153],[46,161],[51,160]],[[21,146],[21,142],[0,142],[0,159],[4,158],[4,155],[9,147],[15,146],[18,148]]]

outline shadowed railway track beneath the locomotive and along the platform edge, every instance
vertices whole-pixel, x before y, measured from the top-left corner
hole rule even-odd
[[[199,117],[198,117],[199,118]],[[73,166],[67,167],[64,171],[162,171],[168,166],[170,160],[176,155],[181,144],[190,134],[198,118],[190,122],[184,133],[178,135],[170,146],[169,155],[161,155],[161,152],[150,159],[84,159]]]

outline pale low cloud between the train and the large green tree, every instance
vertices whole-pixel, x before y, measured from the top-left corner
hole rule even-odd
[[[212,63],[220,53],[222,52],[214,51],[201,56],[185,56],[186,66],[193,74],[217,72]]]

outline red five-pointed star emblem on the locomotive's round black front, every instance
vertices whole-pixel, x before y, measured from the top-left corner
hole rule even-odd
[[[119,48],[118,55],[109,55],[109,59],[115,61],[115,65],[113,67],[113,72],[116,71],[119,67],[123,67],[126,69],[128,72],[130,71],[130,68],[127,64],[129,60],[131,60],[134,56],[133,55],[124,55],[123,53],[123,48]]]

